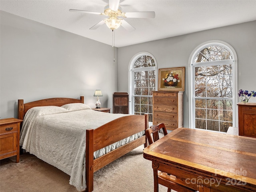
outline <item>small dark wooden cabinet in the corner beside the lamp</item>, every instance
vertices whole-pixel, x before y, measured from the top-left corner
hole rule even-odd
[[[113,93],[113,113],[129,113],[129,95],[126,92]]]

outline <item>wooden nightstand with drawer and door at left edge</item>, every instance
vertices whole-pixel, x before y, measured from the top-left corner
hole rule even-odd
[[[0,119],[0,160],[16,155],[20,161],[20,123],[21,119]]]

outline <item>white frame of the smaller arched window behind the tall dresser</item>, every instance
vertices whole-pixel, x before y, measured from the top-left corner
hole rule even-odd
[[[130,64],[128,66],[128,87],[129,87],[129,114],[134,114],[134,63],[136,62],[136,60],[138,58],[140,58],[141,56],[150,56],[154,62],[155,62],[155,66],[154,67],[146,67],[146,70],[144,70],[145,68],[136,68],[136,71],[149,71],[149,70],[155,70],[155,90],[157,90],[157,80],[158,80],[158,74],[157,74],[157,63],[156,63],[156,59],[154,58],[154,56],[152,56],[152,54],[150,54],[149,52],[139,52],[136,55],[134,55],[132,57],[132,59],[130,60]],[[149,125],[152,124],[149,122]]]

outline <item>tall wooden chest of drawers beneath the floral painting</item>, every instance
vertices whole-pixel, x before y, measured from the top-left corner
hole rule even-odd
[[[183,127],[183,92],[153,91],[153,124],[166,129]]]

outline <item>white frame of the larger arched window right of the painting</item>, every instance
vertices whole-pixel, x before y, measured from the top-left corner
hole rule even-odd
[[[218,65],[218,64],[225,64],[225,63],[230,63],[232,62],[232,78],[233,78],[233,91],[232,91],[232,101],[233,101],[233,126],[237,127],[238,126],[238,106],[236,105],[236,102],[238,101],[238,72],[237,72],[237,55],[236,52],[234,50],[234,48],[232,48],[232,46],[230,46],[230,44],[220,41],[220,40],[211,40],[208,42],[204,42],[202,44],[200,44],[199,46],[197,46],[192,53],[190,54],[189,60],[188,60],[188,80],[189,80],[189,86],[188,86],[188,108],[189,108],[189,128],[195,128],[195,103],[194,103],[194,66],[195,65],[199,65],[199,63],[195,64],[194,60],[195,57],[198,55],[198,53],[206,47],[209,46],[222,46],[224,48],[226,48],[230,54],[232,55],[232,60],[217,60],[217,61],[212,61],[212,62],[202,62],[204,63],[204,66],[212,66],[212,65]],[[194,65],[194,66],[193,66]],[[208,130],[210,131],[210,130]]]

